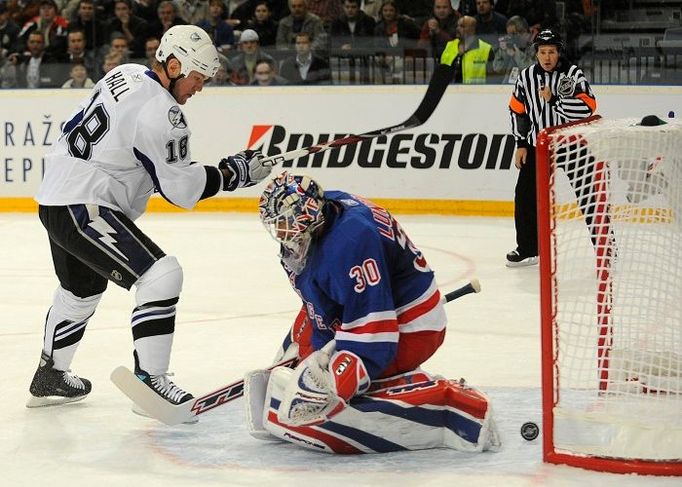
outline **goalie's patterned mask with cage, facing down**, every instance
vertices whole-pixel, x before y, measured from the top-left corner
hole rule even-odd
[[[315,231],[324,223],[324,191],[308,176],[283,172],[263,191],[260,219],[280,243],[280,258],[300,274]]]

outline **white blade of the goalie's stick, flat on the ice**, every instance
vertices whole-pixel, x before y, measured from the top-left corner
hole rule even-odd
[[[130,369],[116,367],[111,372],[111,382],[131,401],[141,407],[149,416],[168,426],[187,422],[194,416],[191,408],[194,400],[182,404],[171,404],[142,382]]]

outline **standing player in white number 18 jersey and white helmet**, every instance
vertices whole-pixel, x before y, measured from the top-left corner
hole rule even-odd
[[[45,319],[28,407],[90,393],[90,381],[69,367],[108,281],[136,288],[131,326],[137,376],[172,403],[192,398],[167,375],[182,268],[133,222],[154,192],[191,209],[270,173],[257,151],[224,158],[217,167],[192,161],[191,132],[180,106],[219,67],[205,31],[172,27],[151,69],[125,64],[95,85],[46,156],[36,200],[59,286]]]

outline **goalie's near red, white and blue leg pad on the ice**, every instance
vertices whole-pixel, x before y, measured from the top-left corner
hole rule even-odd
[[[382,389],[355,397],[326,422],[290,426],[278,419],[288,383],[287,377],[282,379],[268,384],[263,427],[304,448],[354,454],[443,447],[482,452],[500,447],[487,397],[461,382],[437,379]]]

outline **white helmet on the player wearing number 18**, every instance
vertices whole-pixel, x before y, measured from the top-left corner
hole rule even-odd
[[[162,63],[171,54],[180,61],[182,76],[196,71],[212,78],[220,67],[213,41],[206,31],[195,25],[175,25],[166,31],[156,50],[156,60]]]

